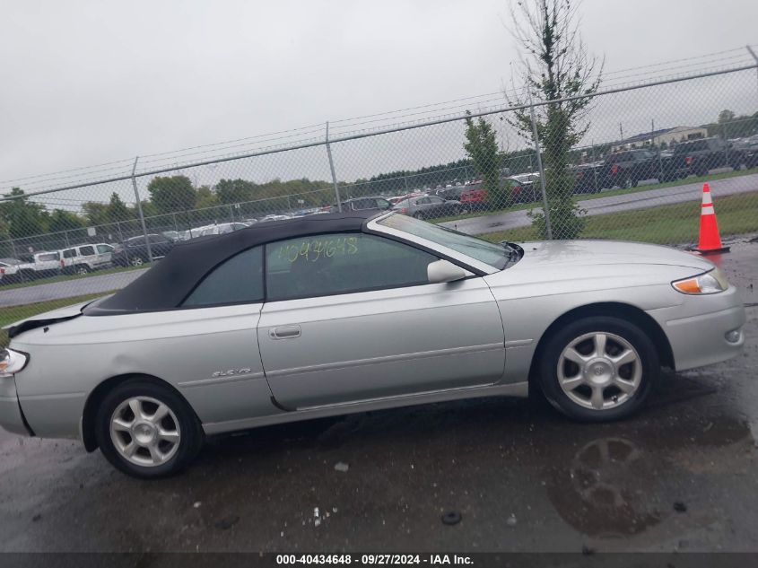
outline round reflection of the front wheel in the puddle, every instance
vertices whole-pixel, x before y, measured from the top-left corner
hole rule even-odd
[[[649,503],[656,472],[632,441],[600,438],[582,447],[548,485],[555,509],[592,537],[623,537],[661,520]]]

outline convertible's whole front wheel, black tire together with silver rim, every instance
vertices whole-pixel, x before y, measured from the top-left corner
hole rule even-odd
[[[597,354],[598,335],[606,337],[602,355]],[[567,358],[571,346],[583,360],[584,372]],[[634,357],[631,362],[620,366],[611,362],[612,357],[627,352],[631,355],[625,356]],[[583,422],[606,422],[631,415],[644,402],[660,372],[658,352],[649,336],[632,323],[614,317],[589,317],[564,325],[547,339],[536,356],[537,378],[545,398],[563,414]],[[571,385],[575,385],[573,389]],[[623,385],[624,390],[617,385]]]

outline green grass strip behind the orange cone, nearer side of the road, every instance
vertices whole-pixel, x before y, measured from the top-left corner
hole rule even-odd
[[[701,202],[661,205],[587,217],[582,239],[640,240],[658,244],[693,243],[700,231]],[[758,231],[758,193],[719,197],[716,214],[721,236]],[[535,240],[531,226],[491,232],[483,239]]]

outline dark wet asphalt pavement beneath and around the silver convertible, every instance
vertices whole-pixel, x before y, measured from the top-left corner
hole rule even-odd
[[[157,482],[0,431],[0,551],[756,551],[758,242],[721,263],[745,354],[665,374],[626,421],[506,398],[350,415],[213,439]]]

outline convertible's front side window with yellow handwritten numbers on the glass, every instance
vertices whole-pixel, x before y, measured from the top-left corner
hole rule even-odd
[[[428,284],[438,260],[423,250],[363,233],[331,233],[266,245],[266,299],[365,292]]]

